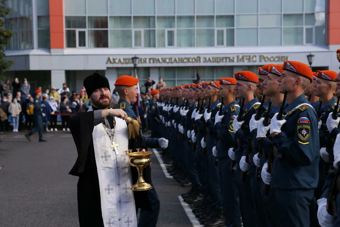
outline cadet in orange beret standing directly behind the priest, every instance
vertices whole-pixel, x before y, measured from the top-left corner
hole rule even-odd
[[[137,83],[137,78],[127,75],[118,77],[115,83],[116,91],[119,94],[116,109],[124,110],[129,117],[136,120],[138,120],[138,118],[131,104],[136,102],[136,96],[138,95]],[[140,211],[138,227],[156,226],[157,223],[160,205],[155,187],[153,184],[151,185],[152,189],[148,190],[151,211]]]

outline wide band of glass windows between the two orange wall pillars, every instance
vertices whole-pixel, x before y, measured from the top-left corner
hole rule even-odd
[[[64,5],[65,24],[72,23],[65,28],[67,47],[325,45],[326,0],[72,0]]]

